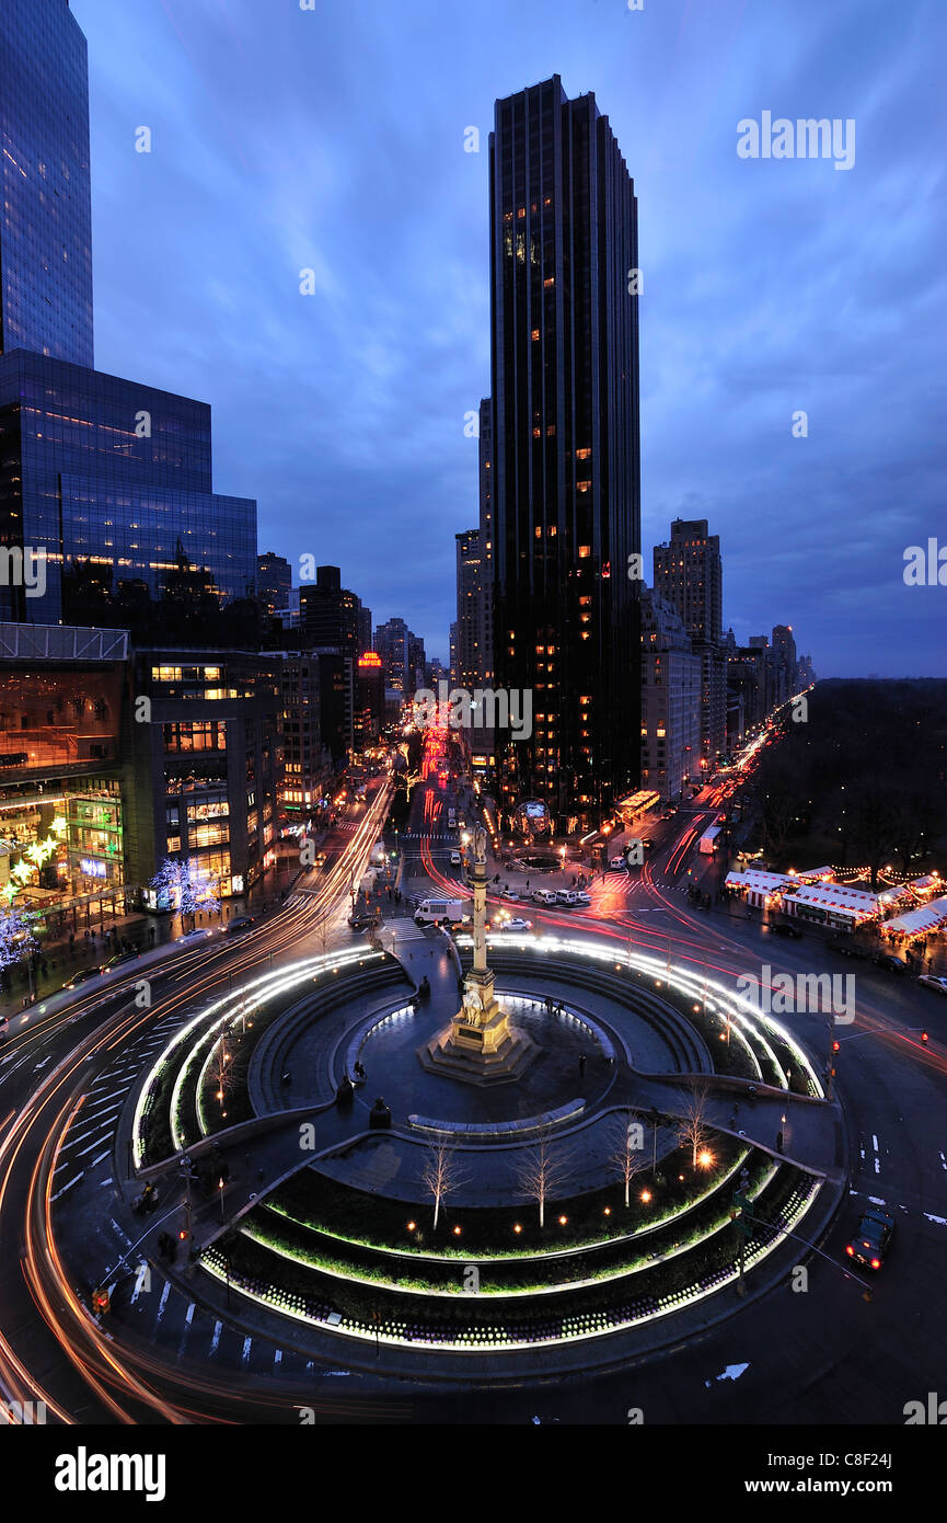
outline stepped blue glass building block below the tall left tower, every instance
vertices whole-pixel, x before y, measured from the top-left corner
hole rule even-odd
[[[212,490],[207,404],[15,350],[0,355],[0,547],[44,556],[33,586],[0,568],[3,618],[56,623],[76,567],[157,599],[181,556],[228,602],[256,586],[256,503]]]

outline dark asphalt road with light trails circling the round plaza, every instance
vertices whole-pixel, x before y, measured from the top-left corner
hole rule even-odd
[[[440,772],[417,790],[400,841],[405,892],[437,891],[463,883],[451,865],[454,841],[446,810],[454,800]],[[368,806],[368,810],[371,804]],[[708,810],[678,815],[668,827],[650,830],[655,848],[638,874],[609,874],[595,885],[588,911],[527,911],[536,928],[571,935],[614,938],[617,949],[668,955],[708,981],[728,988],[734,979],[764,966],[773,973],[837,973],[854,978],[854,1020],[831,1023],[825,1013],[783,1016],[810,1046],[828,1058],[840,1042],[837,1086],[845,1103],[853,1176],[843,1208],[821,1253],[799,1244],[805,1276],[799,1288],[781,1284],[687,1345],[647,1357],[621,1372],[556,1380],[534,1389],[437,1390],[388,1381],[346,1365],[340,1340],[338,1366],[314,1365],[294,1349],[291,1328],[276,1343],[239,1325],[210,1316],[177,1288],[142,1296],[137,1311],[116,1336],[134,1354],[139,1375],[148,1371],[167,1412],[186,1404],[206,1419],[228,1416],[248,1422],[297,1422],[298,1404],[315,1404],[320,1421],[338,1422],[544,1422],[617,1424],[629,1409],[646,1422],[685,1424],[901,1424],[904,1403],[924,1400],[942,1384],[947,1313],[939,1295],[947,1267],[947,1001],[909,979],[892,979],[866,964],[837,959],[816,935],[775,940],[757,921],[725,909],[697,911],[681,891],[694,862],[696,833]],[[114,1161],[108,1151],[108,1112],[99,1100],[111,1094],[116,1075],[134,1078],[137,1057],[160,1022],[174,1023],[198,995],[227,987],[228,978],[266,964],[273,955],[314,950],[329,934],[350,938],[344,928],[352,871],[367,860],[370,841],[350,848],[359,825],[346,822],[335,850],[343,857],[332,889],[317,886],[301,908],[274,915],[239,946],[201,944],[175,949],[148,976],[152,1007],[134,1008],[136,973],[105,995],[73,998],[65,1007],[30,1013],[0,1052],[0,1380],[23,1395],[41,1389],[79,1421],[114,1421],[113,1403],[134,1419],[155,1406],[148,1390],[136,1390],[108,1371],[102,1333],[82,1327],[81,1311],[62,1298],[62,1279],[43,1263],[47,1221],[33,1188],[44,1150],[53,1145],[79,1097],[90,1106],[90,1168],[102,1174],[104,1196]],[[375,836],[373,830],[365,832]],[[685,842],[682,845],[681,842]],[[346,851],[349,857],[346,859]],[[338,859],[336,859],[338,860]],[[364,865],[364,862],[362,862]],[[697,864],[706,871],[705,864]],[[509,873],[504,874],[509,877]],[[403,911],[382,906],[394,924]],[[327,928],[327,931],[326,931]],[[763,985],[766,987],[766,984]],[[845,987],[845,985],[840,985]],[[12,1027],[12,1023],[11,1023]],[[929,1046],[918,1028],[930,1033]],[[157,1036],[160,1040],[160,1033]],[[136,1048],[136,1051],[139,1051]],[[140,1055],[140,1052],[139,1052]],[[123,1065],[116,1068],[116,1065]],[[97,1089],[96,1089],[97,1086]],[[100,1130],[94,1129],[96,1116]],[[85,1138],[82,1138],[85,1141]],[[100,1145],[99,1145],[100,1142]],[[102,1156],[99,1156],[102,1154]],[[69,1171],[56,1177],[69,1183]],[[55,1191],[53,1191],[55,1193]],[[871,1299],[847,1272],[843,1246],[868,1199],[883,1200],[898,1221],[895,1247],[872,1282]],[[59,1244],[69,1253],[69,1243]],[[120,1241],[117,1253],[128,1252]],[[23,1263],[23,1269],[20,1267]],[[40,1295],[38,1295],[40,1288]],[[49,1305],[43,1308],[43,1295]],[[55,1296],[61,1299],[56,1301]],[[46,1314],[43,1314],[46,1310]],[[65,1345],[72,1348],[69,1354]],[[108,1352],[108,1351],[107,1351]]]

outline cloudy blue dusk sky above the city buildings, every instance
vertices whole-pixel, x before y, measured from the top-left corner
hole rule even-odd
[[[944,0],[72,9],[96,364],[213,405],[215,487],[259,500],[260,550],[341,565],[446,658],[493,101],[560,73],[638,195],[647,580],[670,519],[708,518],[738,641],[790,623],[821,676],[947,670],[947,586],[903,580],[907,545],[947,545]],[[738,158],[763,111],[854,119],[854,166]]]

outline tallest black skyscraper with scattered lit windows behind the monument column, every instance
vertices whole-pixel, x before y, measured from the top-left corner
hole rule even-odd
[[[595,821],[638,781],[641,493],[638,212],[592,94],[496,102],[490,241],[493,681],[533,693],[502,797]]]

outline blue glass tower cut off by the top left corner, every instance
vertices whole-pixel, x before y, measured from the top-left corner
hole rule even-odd
[[[94,364],[85,38],[67,0],[0,5],[0,352]]]

